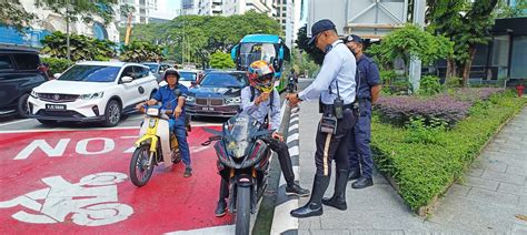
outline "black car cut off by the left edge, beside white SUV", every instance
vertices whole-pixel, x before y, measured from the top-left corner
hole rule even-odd
[[[48,81],[39,65],[37,51],[0,49],[0,116],[28,115],[31,90]]]

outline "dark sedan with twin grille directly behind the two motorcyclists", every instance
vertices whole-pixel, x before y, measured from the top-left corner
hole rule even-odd
[[[232,116],[241,105],[241,89],[249,84],[246,72],[211,71],[189,89],[187,113],[192,116]]]

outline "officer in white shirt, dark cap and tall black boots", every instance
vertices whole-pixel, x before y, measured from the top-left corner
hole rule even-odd
[[[346,184],[348,180],[348,143],[357,120],[352,111],[355,101],[356,61],[354,54],[339,40],[335,24],[320,20],[311,27],[314,44],[326,53],[322,67],[315,81],[300,93],[290,93],[287,99],[295,106],[301,101],[320,99],[322,119],[319,122],[315,153],[316,174],[309,202],[291,211],[294,217],[321,215],[322,203],[346,210]],[[335,125],[336,123],[336,125]],[[336,161],[337,177],[335,194],[324,198],[331,174],[331,160]]]

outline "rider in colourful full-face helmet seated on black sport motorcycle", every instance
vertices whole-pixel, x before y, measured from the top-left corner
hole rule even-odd
[[[274,130],[272,139],[268,143],[269,147],[278,154],[280,168],[286,178],[286,194],[309,196],[309,191],[301,188],[295,182],[291,159],[289,156],[289,147],[284,143],[284,136],[277,130],[280,125],[280,96],[275,85],[275,71],[266,61],[255,61],[248,68],[249,85],[241,90],[241,108],[242,112],[253,116],[260,123],[266,122],[266,116],[270,114],[270,129]],[[274,98],[270,98],[274,95]],[[229,195],[227,176],[221,176],[218,206],[216,207],[216,216],[220,217],[226,214],[227,202]]]

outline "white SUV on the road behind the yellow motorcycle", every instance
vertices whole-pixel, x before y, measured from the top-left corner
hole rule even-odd
[[[30,116],[42,124],[57,121],[102,122],[115,126],[121,114],[158,90],[148,67],[125,62],[80,62],[46,82],[28,99]]]

